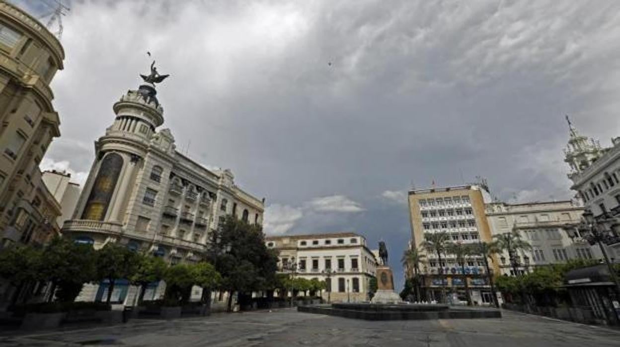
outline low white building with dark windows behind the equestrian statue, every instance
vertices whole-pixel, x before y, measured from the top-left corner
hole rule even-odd
[[[356,233],[286,235],[267,237],[265,244],[280,252],[280,273],[291,273],[286,264],[292,262],[296,264],[294,276],[325,281],[324,300],[370,300],[370,279],[375,276],[377,259],[368,249],[365,237]]]

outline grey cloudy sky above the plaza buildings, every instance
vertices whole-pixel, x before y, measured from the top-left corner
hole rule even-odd
[[[564,199],[564,115],[618,135],[620,1],[70,3],[43,168],[85,178],[150,51],[172,75],[164,127],[267,198],[267,233],[383,238],[398,274],[410,187],[483,176],[505,201]]]

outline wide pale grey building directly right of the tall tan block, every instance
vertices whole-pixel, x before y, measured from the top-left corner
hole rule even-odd
[[[516,271],[526,273],[536,266],[565,263],[569,259],[600,259],[598,247],[591,247],[579,237],[569,237],[568,231],[580,223],[583,205],[578,201],[528,202],[487,204],[487,219],[493,235],[519,233],[532,246],[516,256]],[[499,257],[500,274],[515,275],[508,253]]]

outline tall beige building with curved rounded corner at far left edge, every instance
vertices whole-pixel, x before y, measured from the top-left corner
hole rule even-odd
[[[40,22],[0,2],[0,246],[45,243],[58,233],[60,205],[38,164],[60,136],[50,82],[63,59]]]

